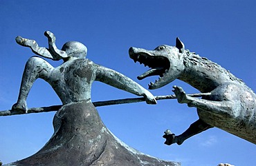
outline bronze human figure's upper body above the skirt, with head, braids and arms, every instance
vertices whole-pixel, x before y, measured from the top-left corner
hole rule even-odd
[[[144,96],[147,103],[156,104],[156,100],[150,92],[127,76],[85,59],[87,48],[82,43],[69,41],[63,45],[62,50],[57,50],[54,34],[46,31],[45,35],[48,37],[48,49],[39,47],[34,40],[17,37],[16,41],[20,45],[31,48],[39,56],[55,61],[62,59],[64,63],[53,68],[50,63],[38,56],[28,59],[22,76],[18,101],[13,105],[12,110],[24,112],[28,110],[26,98],[38,78],[44,79],[53,87],[64,105],[79,101],[91,102],[93,81],[101,81],[132,94]]]

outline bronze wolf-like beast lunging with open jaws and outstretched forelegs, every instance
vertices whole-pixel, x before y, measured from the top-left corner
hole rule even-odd
[[[217,63],[185,50],[179,38],[176,39],[176,47],[161,45],[154,50],[130,48],[129,56],[134,62],[151,68],[138,76],[139,80],[160,76],[149,84],[149,90],[179,79],[200,92],[210,92],[208,96],[194,98],[186,95],[181,87],[173,87],[179,103],[197,108],[199,120],[179,136],[167,130],[163,136],[165,144],[181,145],[187,138],[211,127],[218,127],[256,144],[256,95],[241,79]]]

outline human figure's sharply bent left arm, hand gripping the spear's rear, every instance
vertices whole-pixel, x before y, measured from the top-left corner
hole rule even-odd
[[[26,98],[33,83],[38,78],[48,81],[52,70],[53,66],[42,58],[33,56],[28,59],[21,80],[18,101],[12,106],[12,110],[27,111]]]

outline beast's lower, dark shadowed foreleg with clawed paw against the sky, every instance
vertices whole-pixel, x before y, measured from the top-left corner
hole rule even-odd
[[[190,127],[185,132],[183,132],[183,134],[175,136],[175,134],[165,132],[163,138],[166,138],[166,145],[172,145],[173,143],[181,145],[186,139],[190,138],[191,136],[199,134],[200,132],[203,132],[206,129],[210,128],[212,128],[211,125],[208,125],[199,118],[199,120],[192,123]]]

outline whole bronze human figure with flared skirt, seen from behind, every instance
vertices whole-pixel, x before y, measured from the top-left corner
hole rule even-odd
[[[38,56],[31,57],[26,63],[21,80],[17,103],[12,106],[13,112],[28,110],[26,98],[36,79],[44,79],[60,97],[63,105],[53,118],[54,134],[33,156],[10,163],[6,166],[27,165],[170,165],[179,163],[160,160],[132,149],[113,136],[102,123],[97,110],[91,103],[91,85],[101,81],[120,90],[144,96],[149,104],[156,104],[154,96],[145,88],[102,65],[85,59],[87,49],[77,41],[65,43],[62,50],[55,45],[55,36],[45,32],[48,37],[48,48],[39,47],[36,41],[17,37],[20,45],[48,59],[64,63],[53,68],[47,61]]]

